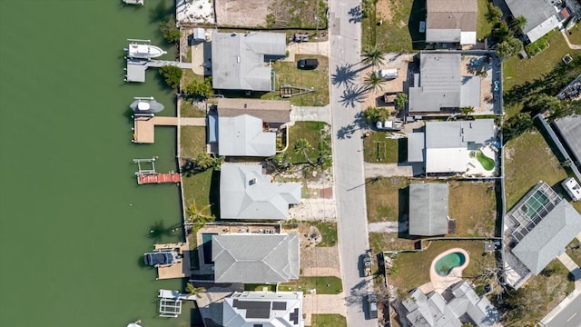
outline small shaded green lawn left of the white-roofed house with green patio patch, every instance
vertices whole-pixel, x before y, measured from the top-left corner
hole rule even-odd
[[[371,132],[363,139],[364,160],[368,163],[405,162],[408,159],[408,139],[389,139],[385,135],[384,132]]]

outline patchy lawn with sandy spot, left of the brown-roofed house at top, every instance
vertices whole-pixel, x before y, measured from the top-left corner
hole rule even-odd
[[[425,34],[419,35],[419,21],[425,20],[425,8],[426,0],[379,0],[376,5],[376,21],[370,15],[361,22],[361,47],[366,49],[373,45],[375,31],[379,49],[385,52],[412,52],[414,48],[418,48],[412,46],[412,37],[414,41],[425,39]],[[380,26],[376,25],[379,20],[383,21]],[[410,31],[413,35],[410,35]]]

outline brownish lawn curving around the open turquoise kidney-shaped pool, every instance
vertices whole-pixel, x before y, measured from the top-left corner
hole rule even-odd
[[[432,241],[428,249],[418,253],[399,253],[394,261],[394,268],[389,272],[390,284],[398,288],[398,292],[410,290],[429,282],[429,267],[438,256],[452,248],[462,248],[470,253],[470,263],[462,272],[463,277],[475,276],[482,269],[495,267],[494,255],[484,252],[483,241]]]

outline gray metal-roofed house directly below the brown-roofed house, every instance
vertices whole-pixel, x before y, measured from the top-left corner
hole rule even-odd
[[[460,74],[461,54],[421,52],[419,74],[409,87],[409,113],[439,114],[480,107],[480,77]]]

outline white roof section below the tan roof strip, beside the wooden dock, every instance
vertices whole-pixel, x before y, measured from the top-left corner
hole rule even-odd
[[[218,117],[218,154],[262,156],[276,154],[276,134],[262,132],[262,121],[248,114]]]

